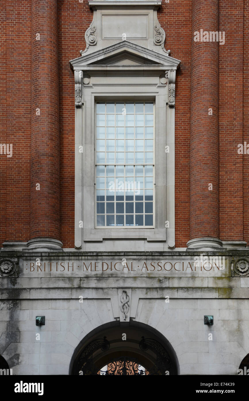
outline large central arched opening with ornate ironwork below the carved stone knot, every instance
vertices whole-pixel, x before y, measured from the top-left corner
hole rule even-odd
[[[70,375],[179,375],[169,341],[154,328],[119,321],[92,330],[76,347]]]

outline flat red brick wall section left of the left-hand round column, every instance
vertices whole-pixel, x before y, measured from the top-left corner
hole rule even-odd
[[[31,2],[0,4],[0,143],[13,146],[0,155],[0,243],[30,236]],[[2,175],[3,174],[3,175]],[[6,179],[2,179],[5,176]]]

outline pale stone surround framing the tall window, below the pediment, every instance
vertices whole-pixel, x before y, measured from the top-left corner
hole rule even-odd
[[[76,75],[80,75],[76,71]],[[75,247],[78,249],[84,241],[126,238],[167,241],[169,248],[175,245],[175,110],[168,104],[168,79],[161,79],[162,71],[159,71],[159,76],[147,77],[143,73],[138,74],[138,71],[133,77],[131,73],[130,70],[128,77],[123,71],[123,76],[110,74],[108,78],[106,74],[103,78],[100,74],[92,74],[90,79],[85,80],[90,81],[89,84],[84,84],[82,79],[82,107],[75,109]],[[155,101],[155,228],[152,229],[94,228],[94,106],[97,100],[114,99]],[[83,153],[79,152],[81,145]],[[169,153],[165,153],[166,145],[169,146]],[[83,221],[83,229],[79,227],[80,221]],[[165,221],[169,221],[167,229]]]

